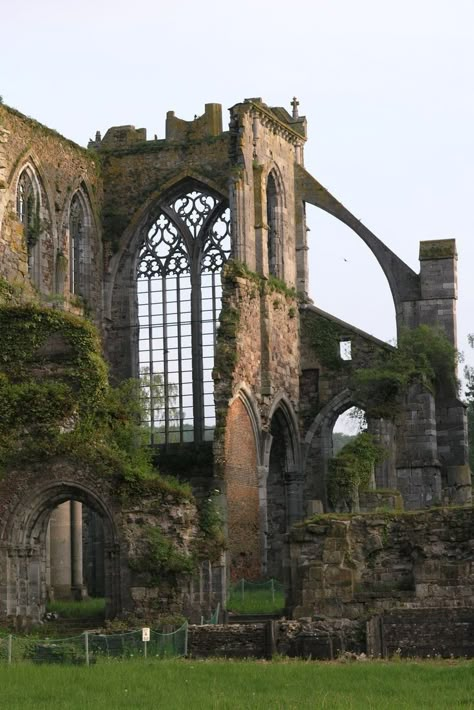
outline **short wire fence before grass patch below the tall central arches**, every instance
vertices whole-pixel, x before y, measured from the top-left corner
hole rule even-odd
[[[276,579],[252,582],[241,579],[229,590],[227,609],[238,614],[271,614],[285,607],[283,584]]]

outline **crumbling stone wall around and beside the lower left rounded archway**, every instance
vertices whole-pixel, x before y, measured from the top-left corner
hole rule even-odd
[[[0,618],[37,622],[45,610],[44,544],[52,510],[79,500],[104,524],[107,614],[152,619],[162,614],[199,618],[221,601],[221,589],[200,588],[199,575],[147,562],[148,531],[159,530],[182,556],[195,553],[195,504],[155,489],[137,495],[113,476],[67,458],[12,468],[0,482]],[[158,563],[157,563],[158,564]]]

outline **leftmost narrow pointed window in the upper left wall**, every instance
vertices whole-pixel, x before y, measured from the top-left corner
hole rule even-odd
[[[39,286],[40,199],[38,183],[29,165],[24,168],[18,179],[16,211],[18,219],[23,225],[23,235],[28,255],[28,273],[33,283]]]

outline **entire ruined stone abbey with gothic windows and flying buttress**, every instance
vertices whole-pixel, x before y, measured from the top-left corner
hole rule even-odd
[[[455,241],[421,242],[416,273],[305,141],[296,101],[87,149],[0,105],[1,618],[91,593],[193,618],[270,577],[294,618],[474,606]],[[399,349],[310,299],[306,204],[374,254]],[[364,481],[333,452],[352,407]]]

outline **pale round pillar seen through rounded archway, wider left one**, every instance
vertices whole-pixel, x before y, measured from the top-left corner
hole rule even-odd
[[[55,598],[71,596],[70,501],[58,505],[49,521],[51,589]]]

